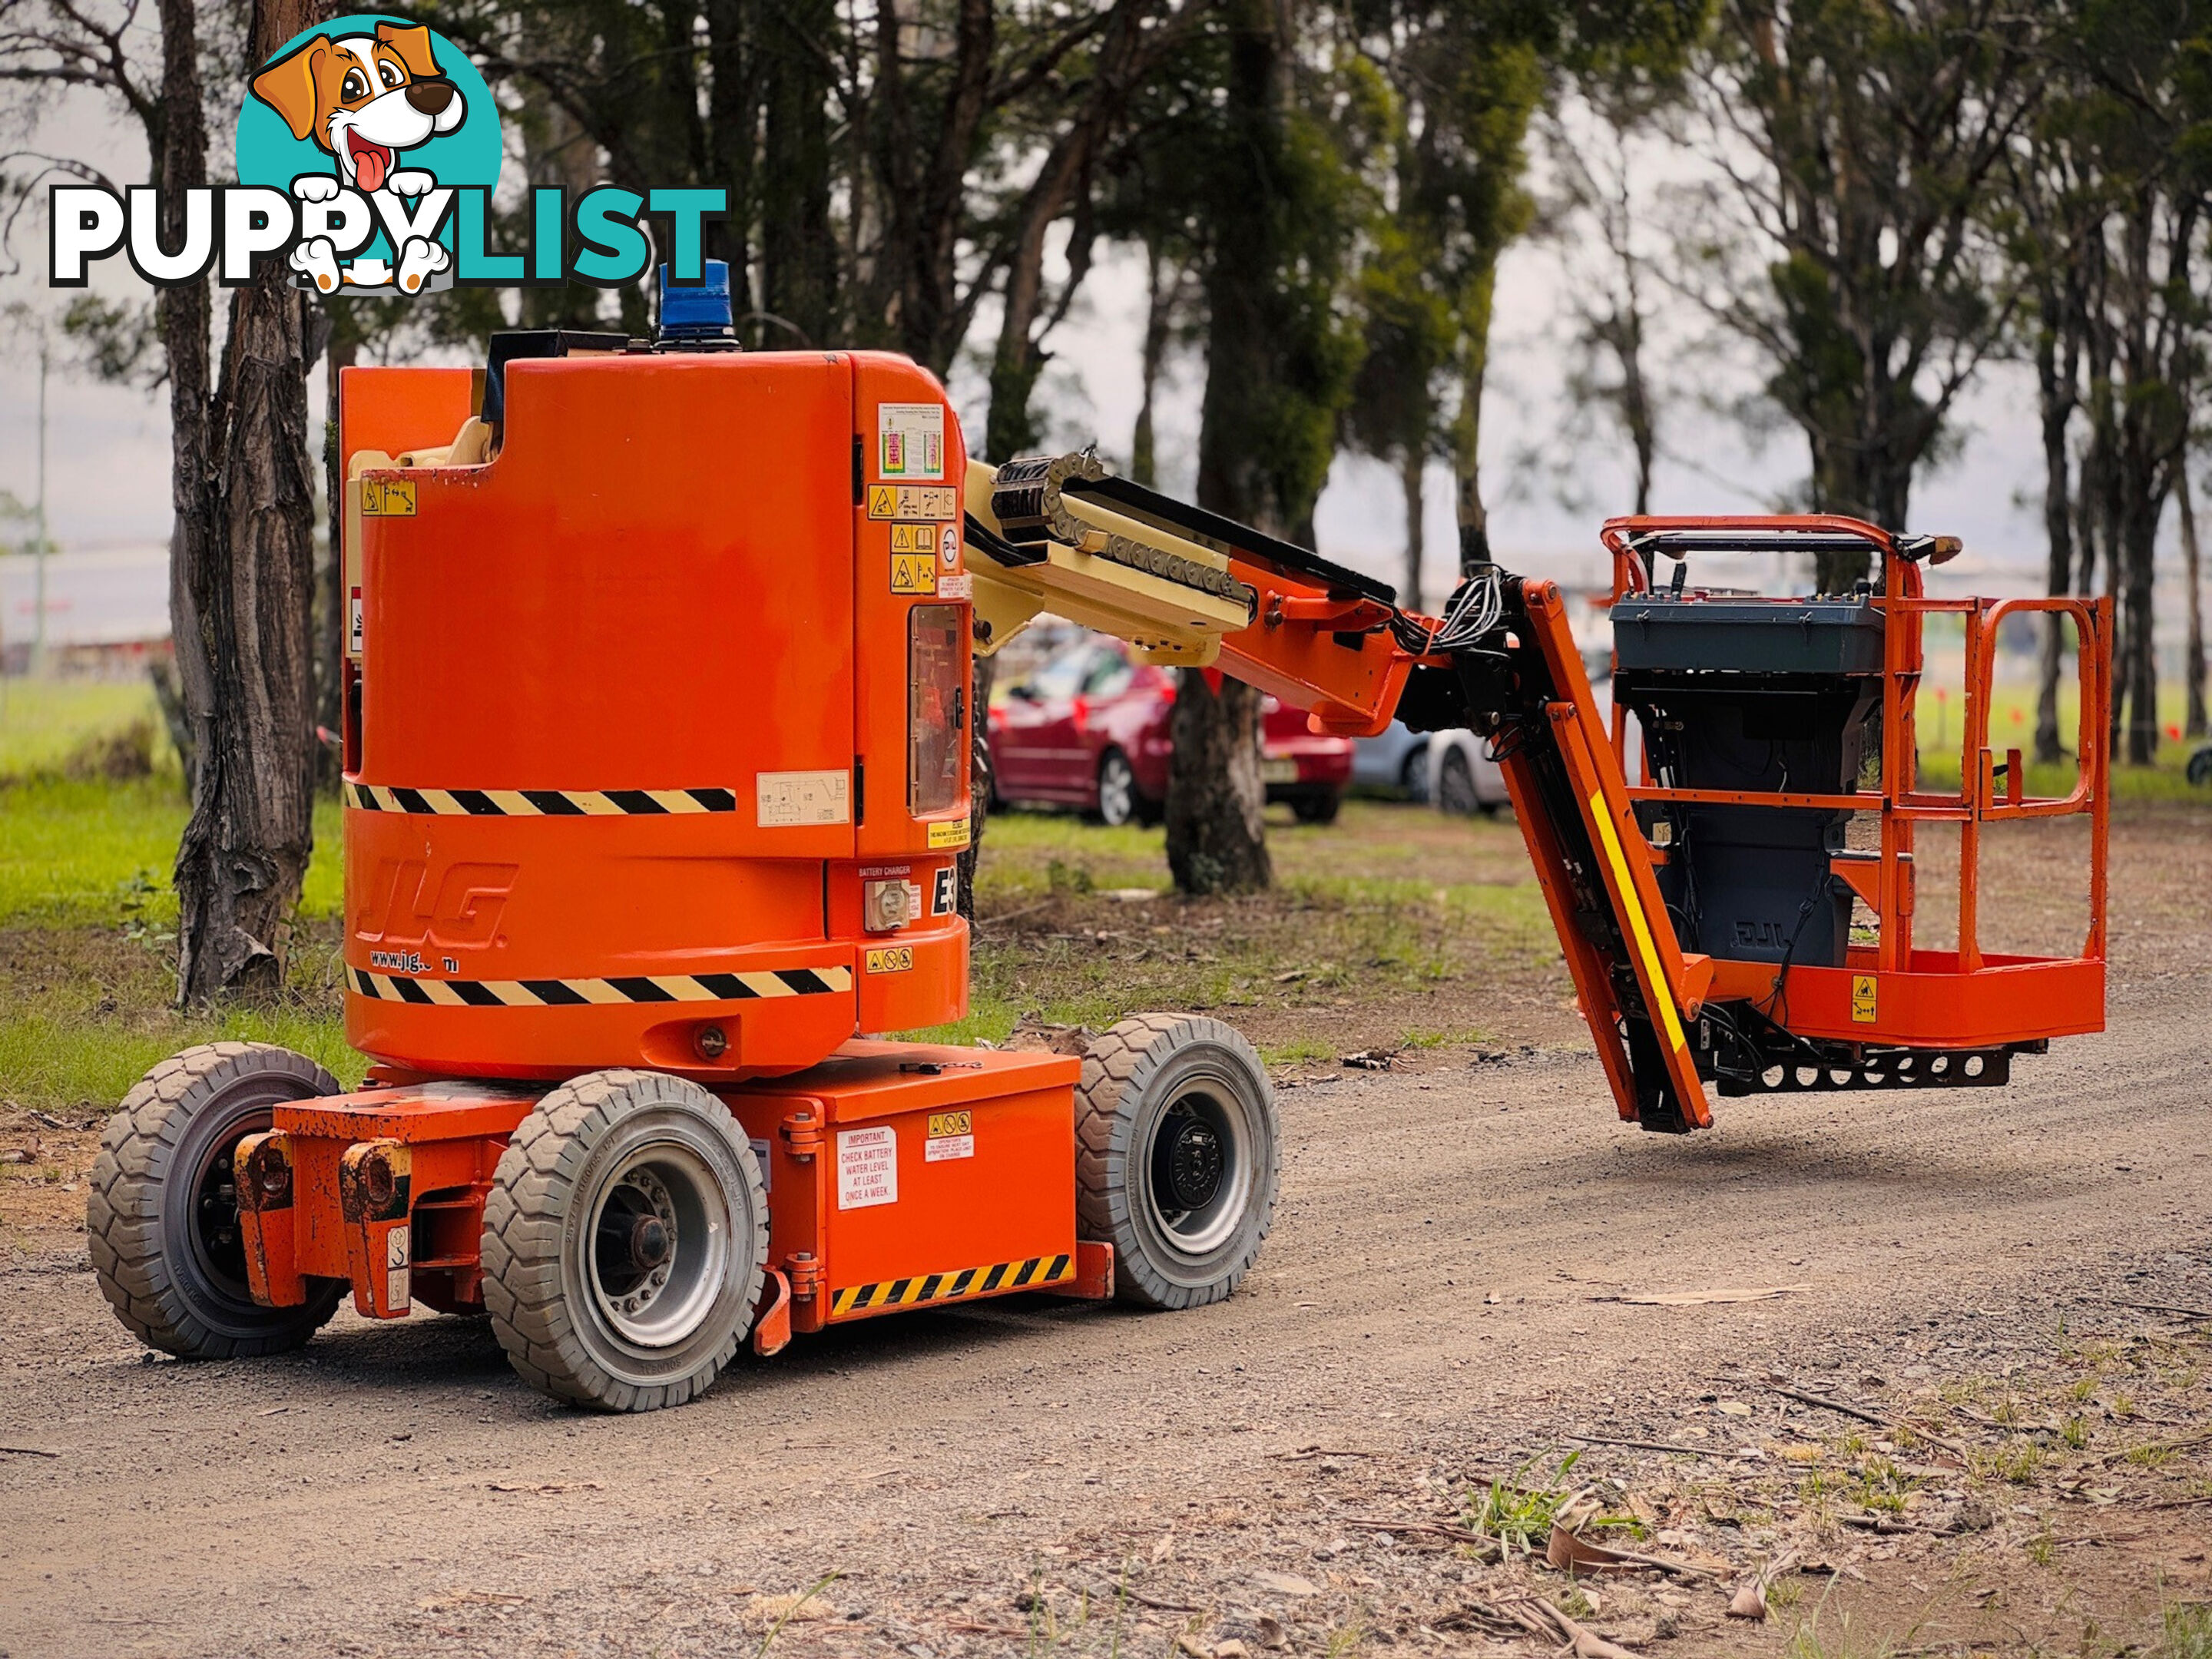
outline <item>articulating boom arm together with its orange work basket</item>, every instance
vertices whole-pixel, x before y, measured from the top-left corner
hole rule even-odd
[[[1705,1079],[1721,1093],[2000,1084],[2013,1053],[2104,1024],[2104,754],[2088,714],[2081,785],[2066,799],[2026,799],[2017,752],[1989,761],[1986,686],[1973,703],[1980,739],[1969,732],[1984,748],[1964,757],[1980,781],[1955,796],[1918,785],[1920,613],[1980,606],[1969,635],[1986,648],[1969,661],[1986,679],[2000,613],[2035,604],[1922,599],[1918,562],[1942,562],[1955,542],[1840,518],[1608,524],[1615,599],[1639,602],[1630,622],[1648,670],[1617,681],[1624,703],[1641,701],[1608,726],[1551,582],[1484,566],[1444,617],[1422,617],[1305,549],[1106,478],[1088,453],[978,462],[967,509],[980,650],[1051,608],[1152,661],[1217,664],[1310,708],[1318,730],[1367,737],[1398,717],[1486,737],[1624,1119],[1705,1128]],[[1885,591],[1730,604],[1650,580],[1659,553],[1834,542],[1880,557]],[[2088,712],[2108,679],[2110,615],[2070,615]],[[1661,770],[1639,785],[1626,770],[1630,712],[1652,734],[1646,768]],[[1882,783],[1863,790],[1863,748],[1876,741]],[[1728,787],[1705,787],[1714,776]],[[2059,812],[2093,816],[2079,958],[1982,956],[1971,872],[1962,949],[1911,949],[1913,816],[1973,827]],[[1854,814],[1878,816],[1878,854],[1847,847]],[[1858,900],[1878,945],[1851,933]]]

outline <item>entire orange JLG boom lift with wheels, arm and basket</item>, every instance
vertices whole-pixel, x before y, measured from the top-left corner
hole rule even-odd
[[[487,1312],[535,1387],[650,1409],[741,1340],[900,1307],[1228,1296],[1279,1144],[1237,1033],[867,1035],[967,1013],[969,653],[1042,608],[1334,732],[1482,732],[1644,1128],[1708,1126],[1708,1086],[1997,1084],[2104,1022],[2108,602],[1931,599],[1955,542],[1843,518],[1613,520],[1608,721],[1548,582],[1489,568],[1411,615],[1088,456],[971,462],[902,358],[737,352],[712,294],[664,319],[345,372],[345,1024],[374,1066],[345,1093],[212,1044],[124,1099],[91,1252],[155,1347],[294,1347],[352,1294]],[[1845,546],[1878,577],[1843,595],[1683,582]],[[1997,626],[2048,611],[2079,635],[2064,799],[1989,743]],[[1931,615],[1966,639],[1949,790],[1916,770]],[[2055,814],[2090,818],[2081,953],[1980,949],[1982,827]],[[1916,942],[1924,825],[1962,838],[1947,949]]]

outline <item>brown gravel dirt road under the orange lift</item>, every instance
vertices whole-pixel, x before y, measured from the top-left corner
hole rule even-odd
[[[2212,1595],[2212,1349],[2157,1312],[2212,1310],[2185,830],[2119,894],[2110,1031],[2008,1091],[1721,1102],[1668,1139],[1579,1053],[1345,1073],[1283,1093],[1276,1230],[1221,1307],[905,1314],[646,1418],[540,1400],[453,1318],[155,1360],[82,1237],[20,1234],[0,1650],[1537,1652],[1489,1617],[1524,1590],[1655,1655],[2148,1641]],[[1617,1301],[1743,1287],[1790,1290]],[[1577,1433],[1703,1453],[1586,1444],[1557,1484],[1719,1579],[1571,1593],[1436,1531]],[[1723,1619],[1785,1546],[1818,1571]]]

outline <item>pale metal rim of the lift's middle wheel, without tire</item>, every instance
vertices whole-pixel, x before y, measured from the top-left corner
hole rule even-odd
[[[626,1343],[672,1347],[714,1310],[730,1265],[721,1181],[688,1146],[646,1146],[591,1208],[591,1296]]]

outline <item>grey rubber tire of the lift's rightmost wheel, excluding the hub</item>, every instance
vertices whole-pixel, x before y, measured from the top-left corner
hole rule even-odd
[[[1203,1252],[1179,1248],[1152,1206],[1152,1152],[1168,1110],[1203,1091],[1241,1115],[1248,1155],[1234,1223]],[[1091,1042],[1075,1088],[1075,1217],[1115,1250],[1115,1296],[1201,1307],[1237,1290],[1274,1225],[1281,1170],[1274,1086],[1259,1053],[1219,1020],[1137,1013]]]

